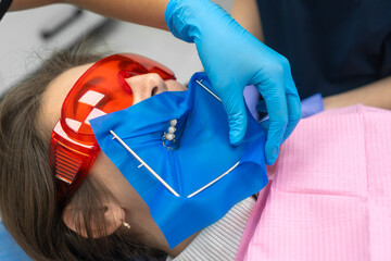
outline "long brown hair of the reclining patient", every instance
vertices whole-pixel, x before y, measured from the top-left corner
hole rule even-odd
[[[83,45],[81,45],[83,46]],[[37,117],[43,91],[66,70],[96,62],[101,55],[77,47],[52,55],[34,74],[11,88],[0,101],[0,215],[16,243],[35,260],[155,260],[162,252],[142,246],[126,228],[93,239],[72,232],[55,202],[55,183],[49,162],[50,137]],[[91,235],[91,222],[105,235],[102,202],[112,197],[105,187],[86,177],[72,198],[81,209],[78,227]],[[88,204],[86,204],[88,202]],[[87,222],[89,221],[89,222]]]

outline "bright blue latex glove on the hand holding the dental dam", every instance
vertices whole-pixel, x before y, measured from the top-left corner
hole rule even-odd
[[[273,164],[279,145],[301,117],[300,99],[288,60],[207,0],[171,0],[165,20],[176,37],[195,42],[212,90],[222,99],[228,114],[234,145],[242,141],[248,125],[244,86],[256,86],[266,100],[270,117],[265,156],[266,162]]]

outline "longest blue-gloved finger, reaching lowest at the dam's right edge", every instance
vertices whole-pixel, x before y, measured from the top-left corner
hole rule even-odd
[[[272,165],[278,157],[279,146],[282,142],[288,125],[287,98],[280,80],[275,83],[270,80],[266,88],[260,85],[257,85],[257,88],[265,98],[269,116],[265,156],[266,163]]]

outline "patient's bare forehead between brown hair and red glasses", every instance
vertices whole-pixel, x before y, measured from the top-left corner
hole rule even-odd
[[[45,133],[50,134],[55,123],[61,116],[61,107],[77,79],[92,65],[93,63],[72,67],[60,74],[50,82],[43,92],[41,99],[40,113],[38,121],[45,128]]]

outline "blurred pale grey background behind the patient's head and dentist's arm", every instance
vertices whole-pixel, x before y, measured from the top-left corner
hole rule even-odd
[[[214,0],[230,11],[234,0]],[[51,52],[68,48],[85,35],[93,35],[93,48],[135,52],[172,69],[186,84],[202,71],[195,46],[169,32],[113,21],[67,4],[10,12],[0,23],[0,91],[39,66]]]

